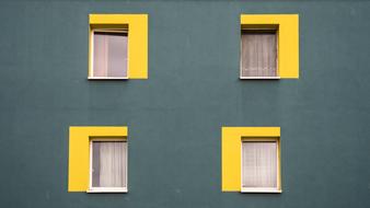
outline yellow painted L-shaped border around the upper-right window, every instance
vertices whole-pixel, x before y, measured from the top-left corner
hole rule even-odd
[[[299,15],[241,14],[241,28],[278,28],[278,74],[299,78]]]

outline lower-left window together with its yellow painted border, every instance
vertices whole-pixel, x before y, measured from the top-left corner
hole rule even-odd
[[[126,126],[69,127],[68,192],[127,192],[127,139]]]

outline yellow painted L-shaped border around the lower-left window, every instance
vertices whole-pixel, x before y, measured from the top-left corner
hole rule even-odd
[[[68,192],[89,189],[90,138],[125,137],[125,126],[71,126],[69,127]]]

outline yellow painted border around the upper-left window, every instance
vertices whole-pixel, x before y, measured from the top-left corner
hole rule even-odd
[[[148,14],[90,14],[89,76],[92,28],[128,28],[128,79],[148,79]]]

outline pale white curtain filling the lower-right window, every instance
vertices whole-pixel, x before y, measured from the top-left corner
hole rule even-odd
[[[277,187],[277,143],[242,143],[243,187]]]

